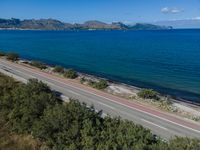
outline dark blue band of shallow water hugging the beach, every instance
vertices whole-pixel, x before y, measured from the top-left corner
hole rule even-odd
[[[136,89],[153,89],[153,90],[159,92],[162,96],[170,97],[171,99],[173,99],[173,101],[185,102],[185,103],[188,103],[191,105],[193,104],[193,105],[200,106],[200,94],[197,94],[197,93],[152,85],[152,84],[145,83],[142,81],[130,81],[128,83],[128,82],[124,82],[123,78],[117,79],[117,77],[111,77],[106,74],[97,74],[95,72],[90,72],[90,71],[80,69],[80,68],[77,68],[74,66],[66,66],[65,67],[65,65],[63,65],[62,63],[56,63],[54,61],[49,61],[49,60],[44,60],[44,59],[37,59],[34,57],[24,57],[23,59],[22,58],[20,58],[20,59],[26,60],[26,61],[36,60],[36,61],[42,62],[50,67],[59,65],[64,68],[71,68],[71,69],[74,69],[75,71],[77,71],[79,74],[91,76],[93,78],[105,79],[106,81],[108,81],[110,83],[122,84],[122,85],[129,86],[129,87],[136,88]],[[191,97],[191,99],[189,97]]]

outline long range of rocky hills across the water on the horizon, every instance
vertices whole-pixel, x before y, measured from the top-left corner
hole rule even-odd
[[[64,23],[59,20],[54,19],[30,19],[30,20],[20,20],[20,19],[0,19],[1,29],[33,29],[33,30],[162,30],[171,29],[168,26],[159,26],[153,24],[141,24],[137,23],[135,25],[125,25],[121,22],[114,22],[112,24],[107,24],[100,21],[87,21],[83,24],[71,24]]]

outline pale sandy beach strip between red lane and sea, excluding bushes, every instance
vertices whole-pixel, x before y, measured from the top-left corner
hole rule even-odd
[[[31,66],[30,64],[27,64],[27,62],[30,63],[32,62],[32,60],[20,58],[17,63],[21,65],[25,65],[26,67],[38,69],[36,67]],[[54,74],[59,77],[64,77],[63,74],[53,72],[55,65],[49,65],[49,64],[45,64],[45,65],[47,66],[47,68],[43,69],[42,71],[46,73]],[[185,119],[189,119],[197,123],[200,123],[200,107],[198,103],[191,103],[190,101],[180,101],[179,99],[174,99],[170,97],[169,95],[163,95],[163,94],[161,94],[160,101],[154,101],[152,99],[142,99],[142,98],[138,98],[137,96],[137,93],[142,88],[139,88],[137,86],[132,86],[132,85],[128,85],[121,82],[110,81],[106,78],[102,78],[102,77],[98,77],[98,76],[94,76],[94,75],[90,75],[90,74],[86,74],[82,72],[77,72],[77,74],[78,74],[78,77],[76,79],[68,79],[68,80],[72,80],[76,83],[80,83],[81,78],[85,78],[92,81],[99,81],[103,79],[103,80],[106,80],[108,83],[108,87],[105,89],[102,89],[102,91],[106,93],[109,93],[121,98],[125,98],[130,101],[137,101],[141,103],[142,105],[147,105],[149,107],[166,111],[166,112],[178,115],[180,117],[183,117]],[[89,86],[87,83],[84,85]]]

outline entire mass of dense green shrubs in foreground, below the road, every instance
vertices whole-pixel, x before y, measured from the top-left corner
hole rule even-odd
[[[102,118],[76,100],[63,103],[36,79],[25,85],[0,74],[0,107],[0,149],[200,149],[199,139],[163,142],[131,121]]]

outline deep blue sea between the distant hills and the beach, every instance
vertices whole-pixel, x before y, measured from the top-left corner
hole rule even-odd
[[[0,50],[200,102],[200,30],[1,30]]]

